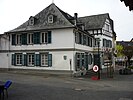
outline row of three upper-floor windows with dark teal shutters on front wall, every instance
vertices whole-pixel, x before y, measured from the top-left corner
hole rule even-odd
[[[40,44],[51,43],[52,34],[51,31],[46,32],[34,32],[34,33],[22,33],[12,34],[12,45],[27,45],[27,44]]]

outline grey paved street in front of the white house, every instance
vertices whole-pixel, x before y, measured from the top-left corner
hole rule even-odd
[[[5,100],[133,100],[133,74],[94,81],[0,72],[1,84],[6,80],[13,84]]]

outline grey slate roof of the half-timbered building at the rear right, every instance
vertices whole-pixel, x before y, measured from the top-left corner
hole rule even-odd
[[[101,29],[105,24],[106,19],[109,18],[109,14],[99,14],[78,18],[79,22],[85,25],[85,30]]]

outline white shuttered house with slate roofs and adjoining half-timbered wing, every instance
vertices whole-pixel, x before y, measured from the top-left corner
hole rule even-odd
[[[109,14],[73,17],[52,3],[0,36],[0,68],[86,72],[97,64],[98,38],[104,67],[105,60],[113,61],[113,27]]]

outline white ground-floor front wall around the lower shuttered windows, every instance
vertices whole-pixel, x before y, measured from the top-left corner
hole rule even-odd
[[[20,69],[41,69],[41,70],[74,70],[74,55],[73,51],[53,51],[49,52],[52,54],[52,67],[26,67],[26,66],[12,66],[10,60],[10,68],[20,68]],[[66,56],[66,60],[64,59]],[[10,55],[11,57],[11,55]],[[72,60],[72,65],[70,66],[70,59]]]

